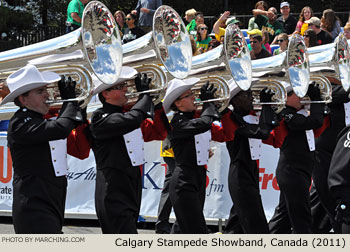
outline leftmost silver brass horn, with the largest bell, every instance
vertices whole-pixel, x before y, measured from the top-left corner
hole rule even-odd
[[[49,86],[48,103],[57,105],[78,100],[81,106],[92,97],[92,74],[106,84],[114,84],[122,66],[122,47],[113,15],[98,1],[84,9],[82,27],[63,36],[0,53],[0,80],[27,64],[40,71],[54,71],[72,76],[77,82],[76,99],[62,100],[58,87]],[[7,104],[0,109],[0,119],[9,119],[18,108]]]

